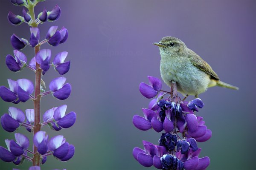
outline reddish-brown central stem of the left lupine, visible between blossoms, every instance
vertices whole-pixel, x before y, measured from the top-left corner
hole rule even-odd
[[[32,27],[37,27],[38,25],[35,23],[35,12],[34,12],[34,5],[29,3],[29,14],[32,17]],[[35,55],[40,51],[40,45],[35,46]],[[40,99],[41,99],[41,92],[40,92],[40,85],[41,85],[41,75],[42,69],[40,65],[36,62],[36,69],[35,69],[35,100],[34,100],[34,111],[35,111],[35,124],[34,124],[34,135],[38,131],[41,130],[41,123],[40,123]],[[34,145],[34,155],[32,158],[33,166],[40,166],[40,154],[38,153],[38,148]]]

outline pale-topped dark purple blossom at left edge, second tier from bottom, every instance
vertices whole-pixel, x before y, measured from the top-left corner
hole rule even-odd
[[[1,125],[7,132],[14,132],[20,124],[24,122],[25,115],[22,110],[15,107],[9,107],[9,114],[1,116]]]

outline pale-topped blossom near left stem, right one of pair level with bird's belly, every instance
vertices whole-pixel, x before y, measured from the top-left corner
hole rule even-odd
[[[34,85],[29,79],[17,80],[17,95],[21,102],[26,102],[34,91]]]

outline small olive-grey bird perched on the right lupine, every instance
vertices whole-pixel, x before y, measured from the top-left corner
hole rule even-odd
[[[221,82],[211,66],[198,54],[187,48],[185,43],[175,37],[163,37],[154,42],[160,49],[160,73],[163,81],[171,87],[177,83],[177,91],[183,96],[204,93],[207,88],[218,85],[239,90],[238,87]]]

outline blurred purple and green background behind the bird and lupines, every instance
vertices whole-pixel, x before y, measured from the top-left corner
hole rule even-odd
[[[161,133],[138,130],[132,124],[134,114],[143,115],[148,106],[139,92],[140,82],[147,76],[160,78],[160,55],[152,42],[164,36],[178,37],[214,68],[219,77],[239,86],[239,91],[210,88],[200,98],[205,107],[198,113],[212,130],[212,138],[204,143],[201,157],[209,156],[209,170],[256,169],[255,166],[255,0],[47,0],[35,8],[36,14],[44,7],[50,11],[61,7],[60,19],[40,25],[41,39],[49,26],[69,31],[69,38],[52,49],[52,57],[68,51],[70,71],[64,75],[72,85],[71,96],[64,101],[51,95],[41,101],[42,114],[52,107],[67,104],[67,113],[75,111],[73,127],[59,132],[43,127],[49,137],[65,136],[76,147],[73,159],[62,163],[48,157],[42,169],[87,170],[144,170],[132,156],[134,147],[143,147],[142,140],[157,144]],[[29,39],[26,24],[12,26],[7,21],[9,11],[22,14],[22,8],[9,0],[0,0],[0,85],[8,86],[7,79],[35,80],[34,73],[24,69],[17,74],[5,64],[12,54],[10,36],[15,33]],[[30,60],[32,48],[23,50]],[[58,77],[51,68],[43,77],[49,85]],[[163,89],[169,90],[164,85]],[[189,99],[192,99],[190,97]],[[12,103],[0,99],[0,115],[8,112]],[[23,111],[32,108],[32,102],[15,105]],[[30,136],[24,128],[18,130]],[[4,139],[14,139],[0,127],[0,145]],[[32,148],[32,146],[30,147]],[[0,169],[28,169],[0,161]]]

